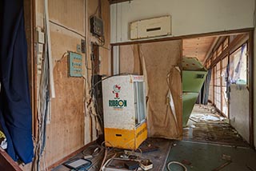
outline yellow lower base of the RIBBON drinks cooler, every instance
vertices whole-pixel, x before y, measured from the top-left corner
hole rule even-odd
[[[146,140],[146,123],[142,123],[134,130],[105,128],[106,146],[119,149],[138,149]]]

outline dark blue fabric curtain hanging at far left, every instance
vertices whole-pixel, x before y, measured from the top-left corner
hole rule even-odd
[[[26,164],[34,146],[23,1],[1,0],[0,6],[0,124],[7,153]]]

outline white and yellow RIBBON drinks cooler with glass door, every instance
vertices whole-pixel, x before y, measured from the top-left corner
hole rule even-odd
[[[102,82],[106,146],[138,149],[147,137],[146,95],[141,75],[122,75]]]

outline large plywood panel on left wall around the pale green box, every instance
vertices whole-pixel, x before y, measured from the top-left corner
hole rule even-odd
[[[51,118],[47,125],[46,159],[49,165],[80,149],[84,143],[84,80],[68,77],[67,50],[75,51],[81,38],[59,26],[50,25],[54,85]]]

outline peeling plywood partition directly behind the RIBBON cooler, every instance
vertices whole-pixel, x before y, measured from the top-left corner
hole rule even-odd
[[[143,74],[149,137],[182,138],[182,41],[119,46],[120,73]],[[169,90],[175,109],[170,108]],[[176,116],[176,118],[174,117]]]

